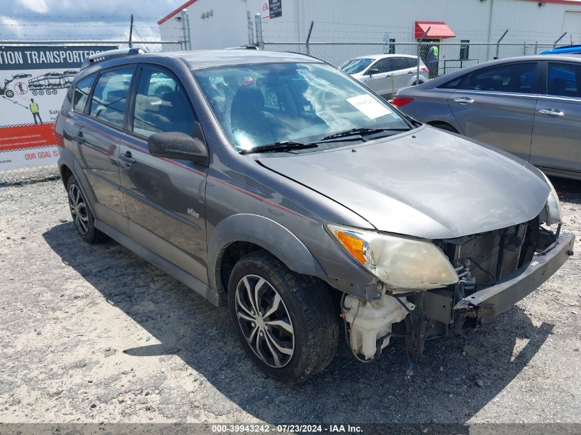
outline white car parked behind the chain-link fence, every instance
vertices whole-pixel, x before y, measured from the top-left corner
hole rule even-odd
[[[375,54],[347,60],[340,69],[383,97],[397,89],[417,85],[417,56],[409,54]],[[419,83],[428,81],[428,67],[419,60]]]

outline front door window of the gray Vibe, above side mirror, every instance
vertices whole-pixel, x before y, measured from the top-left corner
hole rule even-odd
[[[145,137],[164,131],[193,136],[194,124],[188,96],[176,80],[158,69],[142,69],[135,95],[133,131]]]

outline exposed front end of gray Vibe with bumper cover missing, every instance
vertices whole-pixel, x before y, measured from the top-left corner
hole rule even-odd
[[[410,359],[423,352],[426,341],[490,323],[544,282],[529,279],[527,274],[532,276],[531,267],[542,261],[536,258],[547,256],[556,247],[559,233],[560,225],[553,234],[540,226],[537,217],[501,230],[432,241],[453,265],[457,283],[420,291],[384,286],[378,300],[343,295],[341,317],[353,355],[363,362],[372,361],[392,338],[402,338]],[[572,250],[566,252],[572,254]],[[523,277],[528,281],[518,282]],[[472,300],[485,303],[474,305]]]

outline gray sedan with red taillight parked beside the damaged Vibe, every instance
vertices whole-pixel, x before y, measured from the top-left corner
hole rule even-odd
[[[401,89],[393,104],[549,175],[581,179],[581,56],[492,60]]]

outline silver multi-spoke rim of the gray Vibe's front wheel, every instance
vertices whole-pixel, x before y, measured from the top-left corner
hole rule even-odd
[[[261,276],[246,275],[235,297],[238,324],[256,356],[274,368],[289,364],[294,330],[281,295]]]

